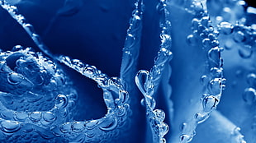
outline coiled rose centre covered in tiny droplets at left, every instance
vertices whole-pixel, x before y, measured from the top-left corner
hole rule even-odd
[[[1,141],[52,139],[50,127],[72,118],[77,99],[72,83],[54,62],[30,48],[18,45],[2,52],[0,63]]]

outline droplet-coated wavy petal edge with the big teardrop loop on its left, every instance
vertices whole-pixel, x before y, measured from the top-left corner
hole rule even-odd
[[[157,90],[159,81],[163,75],[164,67],[172,58],[171,48],[171,22],[168,21],[168,1],[160,0],[157,5],[159,12],[159,26],[161,28],[161,44],[154,66],[150,71],[140,70],[135,76],[135,83],[138,86],[144,99],[141,104],[145,105],[149,127],[153,133],[154,142],[166,142],[164,135],[168,132],[168,125],[164,123],[165,113],[161,109],[155,109],[154,93]]]

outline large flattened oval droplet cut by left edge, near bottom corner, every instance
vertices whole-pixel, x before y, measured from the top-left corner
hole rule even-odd
[[[19,131],[21,128],[21,125],[19,122],[16,121],[3,121],[1,122],[2,131],[7,133],[14,133],[16,131]]]

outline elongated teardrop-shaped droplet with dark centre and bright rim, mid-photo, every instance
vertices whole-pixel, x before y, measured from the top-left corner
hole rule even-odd
[[[148,81],[149,71],[140,70],[135,76],[135,83],[139,88],[142,95],[147,95],[147,89],[145,87],[145,83]]]

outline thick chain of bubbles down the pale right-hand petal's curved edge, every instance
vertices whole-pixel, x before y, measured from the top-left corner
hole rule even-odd
[[[187,35],[187,44],[192,47],[201,44],[206,54],[207,73],[201,76],[201,84],[204,86],[203,89],[206,89],[201,97],[201,108],[198,108],[199,111],[195,113],[192,122],[183,122],[181,125],[180,141],[184,143],[192,141],[193,136],[196,135],[195,128],[197,124],[209,118],[211,111],[219,104],[222,90],[225,87],[223,60],[220,57],[223,48],[220,48],[217,39],[219,32],[211,26],[210,17],[201,2],[193,1],[191,6],[187,8],[187,12],[193,12],[194,14],[192,35]]]

